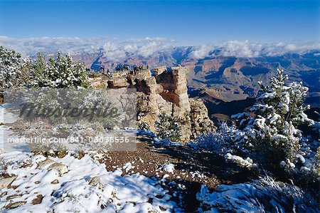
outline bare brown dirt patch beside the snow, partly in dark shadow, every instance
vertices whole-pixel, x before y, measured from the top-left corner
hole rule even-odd
[[[248,170],[226,164],[220,155],[181,145],[156,144],[146,135],[139,135],[138,141],[136,151],[108,152],[101,162],[108,171],[121,169],[123,174],[139,172],[163,180],[162,187],[169,189],[171,199],[180,202],[186,212],[198,208],[196,193],[202,184],[215,189],[220,184],[245,182],[254,177]],[[167,165],[174,165],[174,169],[168,172]]]

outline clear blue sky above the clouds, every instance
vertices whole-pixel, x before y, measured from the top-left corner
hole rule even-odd
[[[0,1],[0,35],[319,41],[320,1]]]

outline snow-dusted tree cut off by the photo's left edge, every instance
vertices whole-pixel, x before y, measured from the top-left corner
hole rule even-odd
[[[0,46],[0,88],[24,86],[28,82],[31,60]]]

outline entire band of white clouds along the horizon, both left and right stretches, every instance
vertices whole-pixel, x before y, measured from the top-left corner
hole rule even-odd
[[[10,38],[0,36],[0,45],[14,48],[23,56],[35,56],[39,51],[50,54],[63,53],[103,53],[110,61],[117,61],[128,56],[152,57],[154,54],[170,52],[175,48],[175,41],[168,38],[132,38],[119,41],[115,38]],[[235,56],[255,58],[259,56],[281,56],[285,53],[306,53],[319,51],[320,42],[278,42],[257,43],[250,41],[225,41],[193,46],[188,58],[206,58],[212,56]]]

